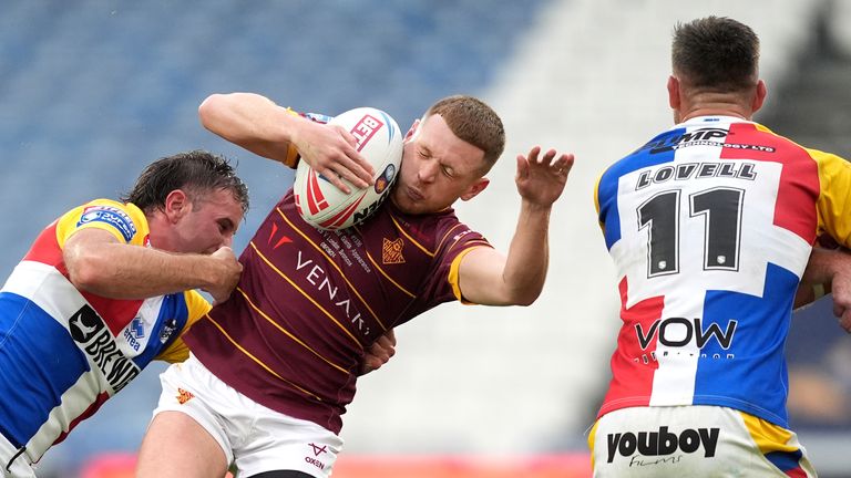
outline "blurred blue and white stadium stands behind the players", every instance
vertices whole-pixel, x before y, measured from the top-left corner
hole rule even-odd
[[[851,158],[842,0],[4,0],[0,10],[2,277],[61,212],[115,198],[150,162],[195,148],[237,163],[250,188],[242,251],[293,176],[204,131],[197,106],[211,93],[329,115],[370,105],[403,128],[439,97],[483,97],[503,116],[506,154],[491,187],[458,210],[503,249],[519,210],[513,156],[537,144],[576,154],[542,298],[445,304],[400,328],[397,356],[359,381],[344,416],[335,477],[588,476],[585,432],[619,324],[592,190],[670,125],[677,21],[751,25],[769,86],[757,119]],[[802,314],[788,345],[792,427],[821,476],[851,476],[851,342],[829,303]],[[39,476],[129,476],[163,368],[51,449]]]

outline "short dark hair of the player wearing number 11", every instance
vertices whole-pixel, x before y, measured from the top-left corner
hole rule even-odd
[[[671,66],[689,86],[740,92],[759,81],[759,38],[750,27],[726,17],[677,23]]]

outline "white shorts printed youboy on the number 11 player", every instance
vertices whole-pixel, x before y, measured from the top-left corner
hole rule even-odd
[[[594,477],[816,477],[793,432],[718,406],[622,408],[588,435]]]

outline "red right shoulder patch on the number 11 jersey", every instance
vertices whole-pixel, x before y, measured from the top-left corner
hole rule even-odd
[[[773,152],[766,152],[728,147],[721,150],[721,159],[755,159],[782,164],[773,222],[812,243],[818,227],[816,200],[819,197],[819,167],[816,160],[801,146],[781,136],[759,131],[751,123],[731,125],[727,144],[773,148]],[[811,214],[800,214],[801,205],[812,205]]]

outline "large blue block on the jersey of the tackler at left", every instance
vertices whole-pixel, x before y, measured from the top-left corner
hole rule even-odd
[[[2,292],[0,312],[0,433],[21,447],[89,363],[68,331],[35,303]]]

